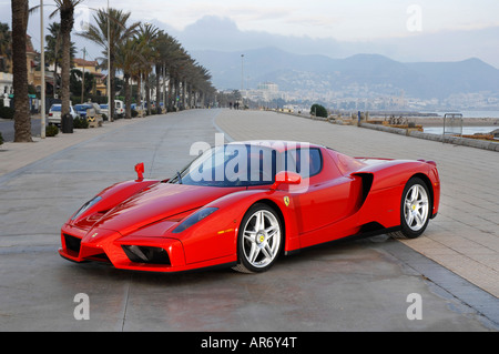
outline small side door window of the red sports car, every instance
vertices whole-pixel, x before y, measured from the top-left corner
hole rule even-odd
[[[285,170],[297,172],[302,178],[316,175],[323,169],[319,149],[296,149],[286,151]]]

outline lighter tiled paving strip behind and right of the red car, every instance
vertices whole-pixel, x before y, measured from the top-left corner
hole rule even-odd
[[[224,111],[216,124],[233,140],[296,140],[353,156],[435,160],[439,214],[421,237],[403,242],[499,297],[498,152],[275,112]]]

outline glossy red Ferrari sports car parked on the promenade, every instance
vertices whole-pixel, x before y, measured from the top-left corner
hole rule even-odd
[[[118,269],[268,270],[281,254],[352,235],[417,237],[437,215],[432,161],[350,158],[308,143],[206,150],[169,180],[114,184],[62,226],[59,253]]]

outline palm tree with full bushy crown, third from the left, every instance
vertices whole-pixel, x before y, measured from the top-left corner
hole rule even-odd
[[[109,9],[108,10],[99,10],[98,13],[93,17],[96,24],[90,24],[86,32],[78,33],[96,44],[103,48],[103,54],[108,57],[108,49],[110,53],[110,58],[106,58],[110,61],[110,72],[108,73],[111,78],[111,83],[114,82],[115,78],[115,60],[118,47],[121,45],[126,39],[131,38],[135,31],[136,27],[140,22],[134,22],[131,26],[126,26],[126,22],[130,18],[130,12],[123,12],[118,9]],[[108,26],[109,26],[109,42],[108,42]],[[114,84],[111,84],[111,88],[108,88],[111,92],[111,102],[109,102],[109,120],[113,120],[114,112]]]

